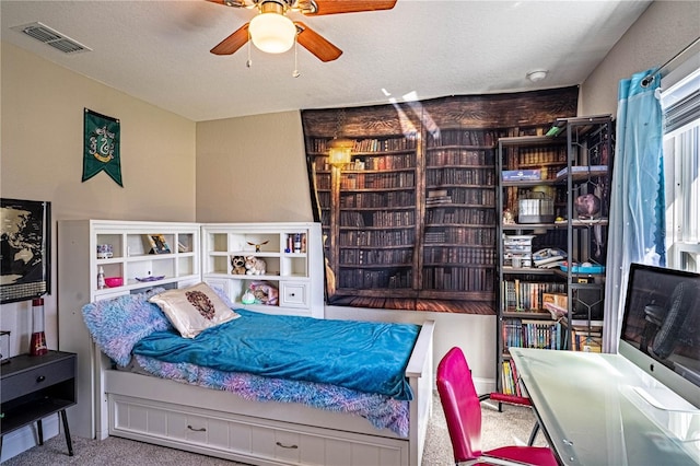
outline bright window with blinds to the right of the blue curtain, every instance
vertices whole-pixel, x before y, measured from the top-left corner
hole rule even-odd
[[[700,69],[663,91],[661,102],[668,266],[700,271]]]

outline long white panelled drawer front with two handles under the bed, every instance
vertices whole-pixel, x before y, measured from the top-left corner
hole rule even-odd
[[[269,465],[399,466],[408,442],[109,395],[109,434]]]

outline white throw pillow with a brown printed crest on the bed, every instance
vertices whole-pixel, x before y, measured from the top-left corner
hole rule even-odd
[[[195,338],[207,328],[241,317],[207,283],[167,290],[149,301],[161,307],[185,338]]]

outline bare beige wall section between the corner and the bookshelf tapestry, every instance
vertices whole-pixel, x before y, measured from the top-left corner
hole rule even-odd
[[[299,112],[197,124],[197,221],[312,221]]]

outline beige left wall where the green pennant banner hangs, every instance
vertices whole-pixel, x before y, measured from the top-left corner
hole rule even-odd
[[[56,221],[194,221],[196,128],[4,43],[1,67],[0,196],[51,202],[54,283],[45,311],[47,342],[57,348]],[[81,183],[85,107],[120,119],[124,188],[105,173]],[[12,331],[12,353],[28,351],[30,310],[31,302],[0,310],[0,327]]]

